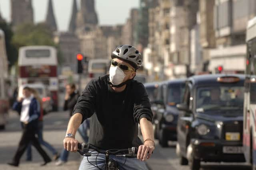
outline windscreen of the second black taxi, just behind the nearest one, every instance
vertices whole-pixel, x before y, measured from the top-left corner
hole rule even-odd
[[[167,104],[169,106],[176,106],[182,102],[185,92],[184,84],[170,84],[168,86]]]

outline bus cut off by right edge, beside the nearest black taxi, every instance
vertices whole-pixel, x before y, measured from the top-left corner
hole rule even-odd
[[[244,92],[244,156],[256,170],[256,17],[246,30],[246,79]]]

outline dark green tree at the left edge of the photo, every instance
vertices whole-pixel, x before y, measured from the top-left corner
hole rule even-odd
[[[18,49],[14,46],[14,43],[12,41],[13,32],[8,23],[6,21],[0,21],[0,29],[4,31],[5,35],[5,44],[6,44],[6,53],[7,53],[7,59],[8,59],[8,66],[11,68],[12,65],[14,65],[18,59]]]

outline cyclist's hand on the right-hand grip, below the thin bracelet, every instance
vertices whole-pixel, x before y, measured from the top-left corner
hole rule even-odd
[[[144,145],[139,146],[137,158],[142,161],[145,161],[146,158],[149,159],[154,149],[152,141],[145,141]]]

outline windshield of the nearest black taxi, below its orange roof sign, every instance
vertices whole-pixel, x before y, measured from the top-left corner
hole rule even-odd
[[[243,86],[208,86],[196,90],[196,111],[236,111],[244,106]],[[242,112],[241,112],[242,113]]]

